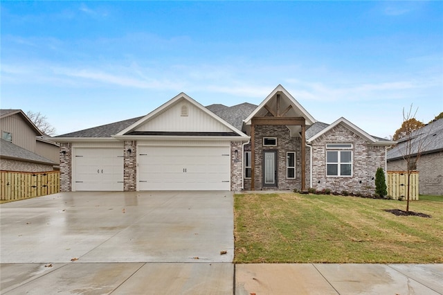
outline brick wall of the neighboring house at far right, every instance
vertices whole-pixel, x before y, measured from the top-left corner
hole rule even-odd
[[[443,152],[422,154],[417,161],[420,195],[443,195]],[[406,170],[406,161],[388,161],[389,171]]]

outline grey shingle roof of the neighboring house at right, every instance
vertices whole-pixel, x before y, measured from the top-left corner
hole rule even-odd
[[[411,155],[417,154],[419,145],[422,154],[430,154],[443,150],[443,118],[429,123],[428,125],[415,130],[410,135]],[[400,138],[397,145],[388,150],[386,156],[388,160],[400,159],[406,156],[406,138]]]

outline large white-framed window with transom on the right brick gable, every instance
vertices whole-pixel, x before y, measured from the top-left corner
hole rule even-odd
[[[352,143],[327,143],[326,175],[352,176]]]

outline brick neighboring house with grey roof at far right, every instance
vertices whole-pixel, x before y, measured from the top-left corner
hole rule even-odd
[[[419,172],[419,194],[443,195],[443,118],[415,130],[408,138],[400,138],[388,150],[388,170],[406,171],[404,158],[410,156],[415,163],[419,151],[416,165],[410,167]]]

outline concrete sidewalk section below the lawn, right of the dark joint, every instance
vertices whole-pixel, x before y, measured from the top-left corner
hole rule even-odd
[[[235,294],[443,294],[443,265],[236,265]]]

